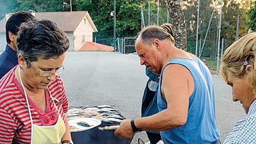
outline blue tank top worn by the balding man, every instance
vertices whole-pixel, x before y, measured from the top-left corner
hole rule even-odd
[[[170,64],[186,67],[192,74],[195,86],[189,98],[188,117],[185,125],[161,131],[163,142],[165,144],[210,144],[219,140],[214,85],[209,69],[199,58],[174,58],[166,66]],[[157,90],[159,111],[167,108],[161,93],[162,73]]]

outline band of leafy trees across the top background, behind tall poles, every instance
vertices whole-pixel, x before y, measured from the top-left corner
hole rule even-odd
[[[141,30],[141,6],[145,26],[148,25],[148,3],[150,2],[150,24],[157,24],[157,0],[116,0],[116,33],[120,37],[132,37]],[[184,9],[187,35],[189,41],[195,41],[197,1],[186,1],[192,3]],[[204,39],[209,20],[211,17],[211,1],[200,1],[200,29],[199,38]],[[231,41],[235,40],[237,16],[240,16],[239,36],[246,34],[248,26],[256,29],[256,8],[254,6],[248,11],[247,22],[246,10],[239,8],[239,4],[234,1],[224,0],[223,21],[221,38]],[[227,3],[230,3],[227,6]],[[72,0],[72,10],[87,10],[97,29],[97,39],[113,38],[113,0]],[[70,11],[70,0],[0,0],[0,18],[6,13],[13,13],[18,10],[35,10],[36,12]],[[211,22],[207,40],[216,41],[218,28],[218,14],[215,12]],[[166,1],[160,1],[159,24],[167,22]],[[211,54],[206,54],[211,55]]]

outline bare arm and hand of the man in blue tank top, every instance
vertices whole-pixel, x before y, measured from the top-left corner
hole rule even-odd
[[[168,65],[163,72],[161,91],[167,102],[167,109],[152,116],[134,120],[142,130],[165,131],[187,120],[189,97],[194,90],[194,81],[189,70],[178,64]],[[122,137],[132,137],[130,121],[124,121],[115,133]]]

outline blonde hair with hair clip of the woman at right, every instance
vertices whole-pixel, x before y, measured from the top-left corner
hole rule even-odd
[[[220,73],[227,81],[228,75],[236,78],[241,78],[245,74],[245,67],[247,62],[252,65],[253,69],[256,67],[255,63],[256,52],[256,33],[250,33],[243,36],[232,45],[230,45],[222,56]],[[253,70],[250,74],[251,81],[249,84],[253,90],[256,90],[256,72]]]

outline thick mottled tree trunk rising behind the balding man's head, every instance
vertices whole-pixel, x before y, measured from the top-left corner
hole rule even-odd
[[[187,31],[184,12],[179,0],[168,0],[170,23],[174,27],[175,46],[187,50]]]

